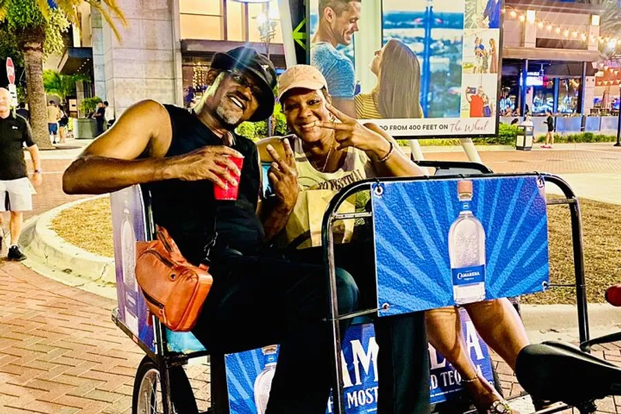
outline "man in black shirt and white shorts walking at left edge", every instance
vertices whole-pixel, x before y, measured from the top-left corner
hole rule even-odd
[[[24,144],[34,165],[32,181],[38,186],[41,183],[39,148],[32,141],[28,121],[11,111],[9,91],[0,88],[0,215],[4,211],[10,211],[11,246],[7,258],[17,261],[26,259],[17,242],[21,233],[23,212],[32,210],[32,187],[28,179],[26,159],[23,157]],[[0,248],[6,243],[5,239],[4,232],[0,229]]]

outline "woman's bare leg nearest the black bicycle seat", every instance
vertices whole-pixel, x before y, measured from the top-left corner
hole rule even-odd
[[[517,354],[528,345],[524,324],[509,299],[493,299],[464,306],[486,344],[515,371]]]

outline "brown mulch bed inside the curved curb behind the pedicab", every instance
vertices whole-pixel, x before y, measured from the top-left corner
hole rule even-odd
[[[580,199],[580,209],[588,300],[602,303],[606,289],[621,282],[621,206]],[[550,282],[574,284],[569,207],[549,206],[548,218]],[[108,197],[64,210],[52,221],[52,228],[70,244],[97,255],[114,255]],[[575,304],[575,290],[553,287],[546,293],[522,297],[522,303]]]

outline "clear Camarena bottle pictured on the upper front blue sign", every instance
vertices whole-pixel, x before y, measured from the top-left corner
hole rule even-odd
[[[485,299],[485,230],[471,210],[472,181],[457,181],[462,204],[460,215],[449,230],[449,258],[455,304]]]

